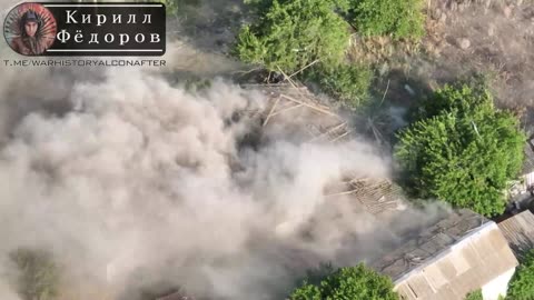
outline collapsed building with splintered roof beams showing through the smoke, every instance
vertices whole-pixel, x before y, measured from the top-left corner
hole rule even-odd
[[[346,141],[354,134],[353,127],[342,118],[328,100],[312,93],[306,87],[289,83],[247,84],[245,89],[260,91],[267,99],[266,109],[254,114],[266,132],[284,131],[284,134],[298,137],[297,142]],[[277,123],[277,116],[285,116],[284,123]],[[295,134],[298,132],[297,134]],[[376,128],[374,137],[378,138]],[[327,199],[349,197],[356,200],[365,211],[374,216],[389,216],[406,208],[406,200],[400,187],[387,178],[362,178],[349,171],[340,182],[333,182],[325,191]]]

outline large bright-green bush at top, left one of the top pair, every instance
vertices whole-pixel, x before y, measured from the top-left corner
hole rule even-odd
[[[245,26],[236,54],[269,71],[295,72],[319,59],[325,66],[339,64],[348,46],[345,21],[335,12],[333,0],[274,0],[253,26]]]

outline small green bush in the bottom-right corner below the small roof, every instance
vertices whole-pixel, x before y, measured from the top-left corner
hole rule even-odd
[[[531,250],[515,271],[508,286],[506,299],[534,299],[534,250]]]

